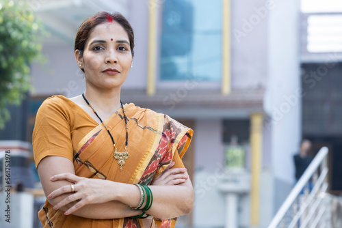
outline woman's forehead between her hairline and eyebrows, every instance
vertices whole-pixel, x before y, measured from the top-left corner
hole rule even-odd
[[[129,42],[129,37],[127,31],[114,21],[113,23],[101,23],[94,27],[89,35],[88,42],[91,40],[127,40]]]

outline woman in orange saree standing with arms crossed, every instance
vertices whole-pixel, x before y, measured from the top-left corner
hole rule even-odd
[[[34,128],[44,227],[174,227],[193,208],[181,161],[192,130],[120,102],[133,48],[121,14],[98,12],[79,27],[75,58],[86,90],[45,100]]]

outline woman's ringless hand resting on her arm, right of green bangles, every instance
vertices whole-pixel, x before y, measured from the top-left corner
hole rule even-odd
[[[165,186],[165,185],[177,185],[184,183],[189,175],[187,174],[187,169],[185,168],[174,168],[174,162],[166,167],[166,169],[161,172],[155,180],[152,181],[151,185]]]

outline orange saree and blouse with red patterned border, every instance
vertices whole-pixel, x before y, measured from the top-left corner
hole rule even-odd
[[[134,104],[124,104],[129,129],[129,158],[120,165],[103,124],[98,124],[81,107],[64,96],[47,98],[36,116],[32,147],[36,167],[46,156],[62,156],[73,161],[75,174],[127,184],[149,185],[172,161],[184,167],[193,131],[174,119]],[[119,109],[104,124],[114,137],[118,152],[124,151],[124,115]],[[142,219],[90,219],[53,210],[45,201],[38,216],[43,227],[144,227]],[[152,227],[174,227],[176,218],[153,218]]]

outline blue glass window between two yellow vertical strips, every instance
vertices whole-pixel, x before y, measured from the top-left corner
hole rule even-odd
[[[222,0],[166,0],[160,79],[220,81]]]

